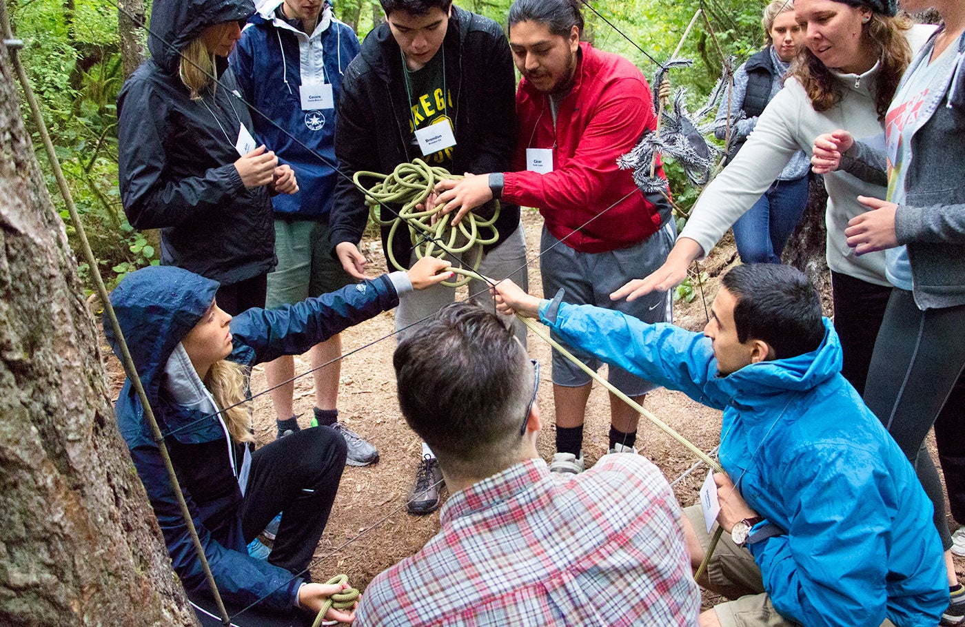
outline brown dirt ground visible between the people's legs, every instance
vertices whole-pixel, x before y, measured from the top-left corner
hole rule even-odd
[[[523,225],[531,259],[531,291],[541,294],[537,255],[542,220],[538,212],[524,210]],[[370,274],[385,270],[381,246],[374,241],[364,241],[360,248],[366,251],[370,260]],[[719,286],[719,275],[735,262],[732,239],[722,242],[702,262],[702,270],[709,275],[703,282],[703,298],[699,289],[693,302],[676,303],[675,321],[678,325],[692,330],[703,328],[706,322],[704,299],[709,308]],[[405,501],[414,482],[421,447],[419,438],[402,419],[396,399],[392,368],[396,341],[389,337],[394,329],[393,314],[388,312],[343,333],[343,353],[347,356],[342,362],[340,419],[372,442],[379,451],[380,459],[368,468],[345,468],[331,519],[315,554],[312,574],[316,581],[324,581],[336,573],[345,573],[353,586],[362,589],[376,574],[416,553],[439,529],[438,511],[428,516],[413,516],[405,511]],[[367,346],[379,338],[387,339]],[[108,369],[116,395],[124,376],[110,349],[104,345],[103,350],[105,355],[109,355]],[[352,352],[355,350],[358,352]],[[548,375],[551,361],[549,345],[531,333],[529,351],[543,364]],[[605,374],[605,368],[601,373]],[[295,358],[296,373],[309,369],[307,355]],[[252,377],[252,392],[257,395],[254,421],[260,444],[270,442],[275,437],[271,401],[268,395],[259,395],[265,387],[263,368],[257,367]],[[301,414],[299,423],[302,427],[308,426],[313,402],[312,377],[299,378],[295,383],[294,404],[295,413]],[[554,452],[555,423],[549,376],[544,377],[543,385],[539,388],[538,405],[545,425],[539,438],[539,452],[548,460]],[[719,442],[720,412],[708,409],[685,395],[658,390],[647,396],[645,407],[704,451],[713,449]],[[607,394],[594,384],[584,440],[588,467],[606,452],[608,429]],[[637,448],[670,481],[680,477],[697,461],[692,453],[646,419],[640,423]],[[676,483],[674,489],[681,504],[697,501],[706,473],[706,467],[701,466]],[[444,492],[444,496],[448,496],[448,493]],[[958,559],[956,563],[961,575],[965,559]],[[712,605],[714,602],[714,597],[705,594],[705,604]]]

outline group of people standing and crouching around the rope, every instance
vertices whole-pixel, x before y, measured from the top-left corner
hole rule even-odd
[[[939,419],[951,491],[950,469],[965,470],[947,402],[965,366],[965,189],[949,139],[963,123],[965,9],[903,0],[942,15],[929,38],[894,0],[772,3],[773,45],[722,109],[746,116],[739,152],[675,244],[667,200],[616,163],[656,126],[647,82],[580,41],[578,2],[516,0],[509,41],[449,0],[382,6],[386,23],[360,46],[316,0],[257,14],[247,0],[158,0],[152,60],[119,97],[125,210],[136,228],[162,229],[162,266],[128,275],[111,300],[230,607],[259,602],[272,624],[338,591],[306,568],[346,461],[378,456],[337,421],[338,334],[399,305],[400,408],[425,441],[409,508],[435,509],[443,482],[453,496],[439,535],[364,593],[360,624],[965,622],[944,495],[920,454]],[[807,180],[801,150],[830,196],[833,327],[813,287],[778,264],[731,271],[703,335],[665,324],[669,290],[752,205],[772,224],[745,225],[738,245],[764,240],[755,260],[777,260],[797,218],[775,195]],[[500,282],[471,285],[476,306],[447,305],[446,260],[365,271],[367,208],[351,177],[419,156],[473,175],[428,202],[457,217],[502,205],[482,268]],[[520,204],[544,218],[552,301],[526,295]],[[557,453],[548,467],[538,459],[538,364],[519,323],[508,330],[479,303],[538,316],[638,402],[665,385],[724,410],[721,509],[707,520],[731,539],[701,583],[736,600],[698,617],[690,566],[712,530],[642,456],[584,472],[591,383],[556,351]],[[290,356],[309,350],[313,366],[335,360],[316,373],[319,428],[300,428],[291,385],[278,387],[279,438],[255,450],[247,373],[267,363],[269,385],[282,383]],[[419,394],[428,381],[431,399]],[[129,381],[117,415],[175,570],[200,598],[207,582]],[[638,420],[611,396],[610,452],[636,453]],[[267,559],[249,555],[279,514]]]

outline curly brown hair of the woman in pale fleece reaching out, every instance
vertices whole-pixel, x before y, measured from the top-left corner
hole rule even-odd
[[[910,29],[911,25],[912,21],[903,14],[895,17],[871,14],[866,25],[863,37],[869,44],[877,45],[880,50],[878,62],[881,68],[874,84],[874,108],[879,121],[885,119],[888,105],[895,97],[898,80],[911,63],[911,46],[905,38],[905,31]],[[814,56],[808,46],[801,46],[789,75],[804,87],[811,98],[814,111],[827,111],[841,102],[841,87],[834,75]]]

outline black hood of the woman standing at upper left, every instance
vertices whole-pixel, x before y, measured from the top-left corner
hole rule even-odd
[[[154,0],[148,49],[155,64],[176,74],[179,53],[208,26],[253,14],[252,0]]]

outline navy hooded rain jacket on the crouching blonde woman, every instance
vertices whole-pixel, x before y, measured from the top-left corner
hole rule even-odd
[[[175,447],[225,440],[225,431],[216,417],[173,404],[163,386],[168,358],[205,314],[217,288],[216,282],[193,272],[175,266],[153,266],[128,274],[111,293],[111,303],[154,416],[167,436],[166,442]],[[277,310],[250,309],[231,321],[234,348],[228,359],[251,367],[281,355],[301,354],[319,341],[398,304],[395,287],[383,275]],[[104,331],[114,352],[120,354],[117,338],[106,320]],[[175,572],[189,592],[206,589],[201,563],[181,517],[174,488],[129,380],[124,382],[116,414]],[[235,445],[239,453],[243,453],[242,446]],[[234,457],[240,461],[243,455]],[[234,489],[221,490],[230,494],[227,498],[205,501],[192,496],[191,485],[204,486],[206,481],[225,477],[234,481],[228,455],[220,459],[227,468],[212,467],[212,463],[218,462],[211,459],[185,459],[183,454],[175,460],[178,480],[218,589],[227,600],[241,606],[266,597],[262,602],[265,608],[289,609],[303,580],[292,578],[288,570],[248,556],[241,532],[242,496],[236,482]],[[217,521],[216,528],[209,529],[206,521]]]

